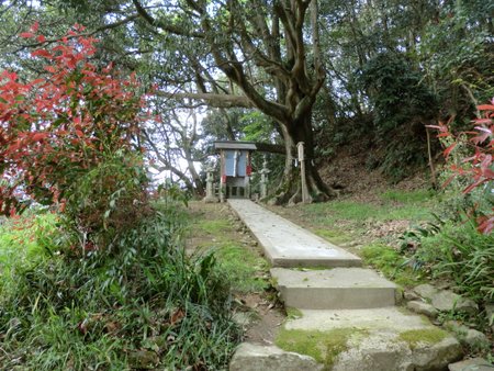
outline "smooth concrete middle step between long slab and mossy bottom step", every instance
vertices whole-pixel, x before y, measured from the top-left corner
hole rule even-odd
[[[396,285],[370,269],[272,268],[281,300],[303,310],[377,308],[395,304]]]

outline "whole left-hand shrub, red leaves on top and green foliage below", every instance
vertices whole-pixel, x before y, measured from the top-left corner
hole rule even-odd
[[[146,177],[133,143],[143,100],[132,75],[90,59],[97,40],[75,26],[31,54],[45,74],[0,74],[0,214],[56,205],[85,234],[132,222]],[[21,36],[45,43],[37,26]]]

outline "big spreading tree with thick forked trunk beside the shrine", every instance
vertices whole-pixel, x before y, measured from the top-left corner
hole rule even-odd
[[[327,199],[314,159],[312,111],[326,78],[319,52],[316,0],[69,0],[46,4],[69,11],[93,31],[120,33],[165,98],[217,108],[254,108],[272,117],[287,151],[278,201],[297,201],[295,146],[306,146],[311,194]],[[74,9],[77,11],[74,12]],[[105,43],[106,49],[112,45]],[[116,49],[115,45],[113,48]],[[156,68],[157,67],[157,68]]]

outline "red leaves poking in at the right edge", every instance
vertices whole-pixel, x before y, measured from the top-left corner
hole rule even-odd
[[[472,131],[453,134],[447,123],[433,126],[439,130],[439,137],[452,140],[445,149],[447,159],[460,143],[471,148],[471,155],[462,158],[460,165],[451,165],[453,176],[447,181],[448,184],[456,176],[468,179],[469,184],[463,189],[463,193],[470,193],[480,187],[485,187],[487,193],[494,189],[494,99],[491,104],[478,105],[478,110],[480,116],[473,120]],[[494,209],[492,211],[491,214],[483,213],[476,217],[479,232],[490,234],[494,229]]]

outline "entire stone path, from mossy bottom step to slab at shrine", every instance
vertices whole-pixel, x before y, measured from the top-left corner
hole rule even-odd
[[[232,371],[447,370],[460,344],[396,306],[398,288],[360,258],[248,200],[228,200],[272,265],[289,316],[277,346],[243,344]]]

